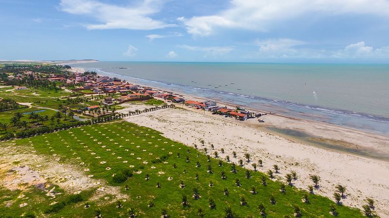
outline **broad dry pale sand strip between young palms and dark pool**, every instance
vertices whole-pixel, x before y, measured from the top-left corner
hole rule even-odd
[[[276,175],[278,179],[284,181],[286,173],[296,171],[299,179],[294,185],[303,189],[312,185],[309,175],[318,174],[321,187],[315,193],[333,199],[335,186],[341,184],[347,187],[344,204],[361,207],[364,200],[371,197],[376,201],[379,215],[389,217],[388,162],[303,145],[219,117],[166,109],[130,116],[126,120],[159,130],[165,137],[187,145],[197,144],[200,149],[199,139],[203,139],[211,153],[212,143],[222,158],[229,155],[234,162],[245,159],[244,154],[248,152],[253,157],[246,167],[252,168],[251,163],[258,159],[264,161],[261,171],[278,164],[281,168]],[[220,148],[224,148],[226,154],[221,154]],[[233,151],[238,153],[238,158],[232,157]]]

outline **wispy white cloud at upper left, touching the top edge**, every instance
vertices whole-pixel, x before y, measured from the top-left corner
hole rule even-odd
[[[150,17],[161,10],[161,0],[143,0],[141,4],[131,6],[106,4],[97,0],[61,0],[60,6],[65,12],[91,16],[100,22],[88,24],[89,30],[154,30],[176,26]]]

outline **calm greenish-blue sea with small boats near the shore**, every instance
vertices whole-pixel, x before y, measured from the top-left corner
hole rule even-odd
[[[129,82],[389,135],[388,64],[92,62]]]

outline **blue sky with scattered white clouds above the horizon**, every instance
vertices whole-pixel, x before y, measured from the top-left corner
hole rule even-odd
[[[389,0],[0,0],[0,60],[389,63]]]

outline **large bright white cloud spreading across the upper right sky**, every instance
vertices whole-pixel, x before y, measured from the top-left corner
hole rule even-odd
[[[230,8],[182,21],[189,33],[207,36],[218,28],[268,31],[273,24],[310,13],[323,16],[367,14],[389,16],[387,0],[231,0]]]

